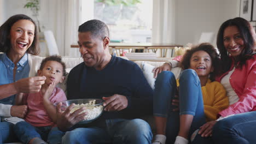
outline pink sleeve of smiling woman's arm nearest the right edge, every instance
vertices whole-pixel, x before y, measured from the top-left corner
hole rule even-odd
[[[232,114],[255,111],[254,107],[256,107],[256,65],[253,66],[247,76],[245,88],[239,100],[219,114],[226,117]]]

